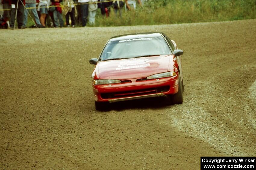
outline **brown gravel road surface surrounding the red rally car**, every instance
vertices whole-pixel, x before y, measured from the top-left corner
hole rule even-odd
[[[184,100],[95,110],[94,68],[115,35],[159,31],[184,50]],[[256,156],[256,20],[0,31],[0,169],[200,169]]]

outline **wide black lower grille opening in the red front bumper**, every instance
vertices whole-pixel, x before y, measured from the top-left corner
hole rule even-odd
[[[114,92],[114,93],[102,93],[101,97],[103,99],[112,99],[112,98],[122,98],[122,97],[132,97],[132,96],[140,96],[146,94],[156,94],[163,93],[170,90],[170,86],[163,86],[158,88],[148,88],[142,90],[133,90],[133,91],[122,91],[122,92]]]

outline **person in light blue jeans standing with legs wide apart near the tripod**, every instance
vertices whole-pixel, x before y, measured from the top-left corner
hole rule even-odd
[[[26,5],[25,5],[26,8],[32,7],[31,10],[32,10],[32,13],[34,15],[34,18],[35,18],[35,21],[36,21],[36,25],[39,28],[42,27],[42,25],[40,23],[40,20],[39,20],[39,17],[38,17],[38,14],[36,12],[36,0],[26,0],[25,2],[26,2]],[[26,27],[26,25],[27,25],[28,12],[29,12],[29,10],[25,9],[24,20],[23,20],[23,27]]]

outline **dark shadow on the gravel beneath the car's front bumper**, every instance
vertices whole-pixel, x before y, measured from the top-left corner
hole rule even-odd
[[[167,106],[170,106],[170,100],[167,97],[155,97],[111,103],[109,109],[120,111],[124,109],[158,109]]]

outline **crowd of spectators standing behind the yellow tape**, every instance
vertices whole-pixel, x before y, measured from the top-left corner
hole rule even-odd
[[[27,28],[28,17],[31,17],[34,22],[32,27],[36,28],[58,28],[64,25],[85,27],[86,24],[95,24],[98,8],[102,16],[108,17],[113,8],[114,13],[121,17],[123,7],[133,10],[136,4],[142,6],[143,1],[145,0],[0,0],[0,26],[14,29],[17,20],[18,28]]]

